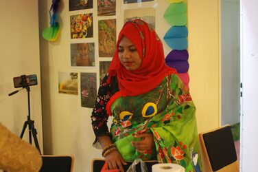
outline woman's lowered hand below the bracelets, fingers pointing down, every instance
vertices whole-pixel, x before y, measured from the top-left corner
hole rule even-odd
[[[119,169],[121,172],[124,172],[123,165],[126,165],[126,162],[119,151],[110,151],[110,153],[105,156],[105,161],[108,163],[108,169]]]

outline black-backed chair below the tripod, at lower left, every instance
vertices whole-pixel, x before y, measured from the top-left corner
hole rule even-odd
[[[73,155],[41,155],[43,165],[40,172],[72,172]]]

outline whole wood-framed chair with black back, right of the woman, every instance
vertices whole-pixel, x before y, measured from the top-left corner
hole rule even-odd
[[[231,125],[199,133],[199,139],[203,171],[239,171]]]

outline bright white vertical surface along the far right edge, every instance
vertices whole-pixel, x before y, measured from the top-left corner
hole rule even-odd
[[[258,74],[258,21],[257,0],[242,0],[242,171],[257,171],[257,74]]]

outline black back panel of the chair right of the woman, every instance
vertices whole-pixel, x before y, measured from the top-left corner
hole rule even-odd
[[[231,126],[203,134],[211,168],[218,171],[237,160]]]

